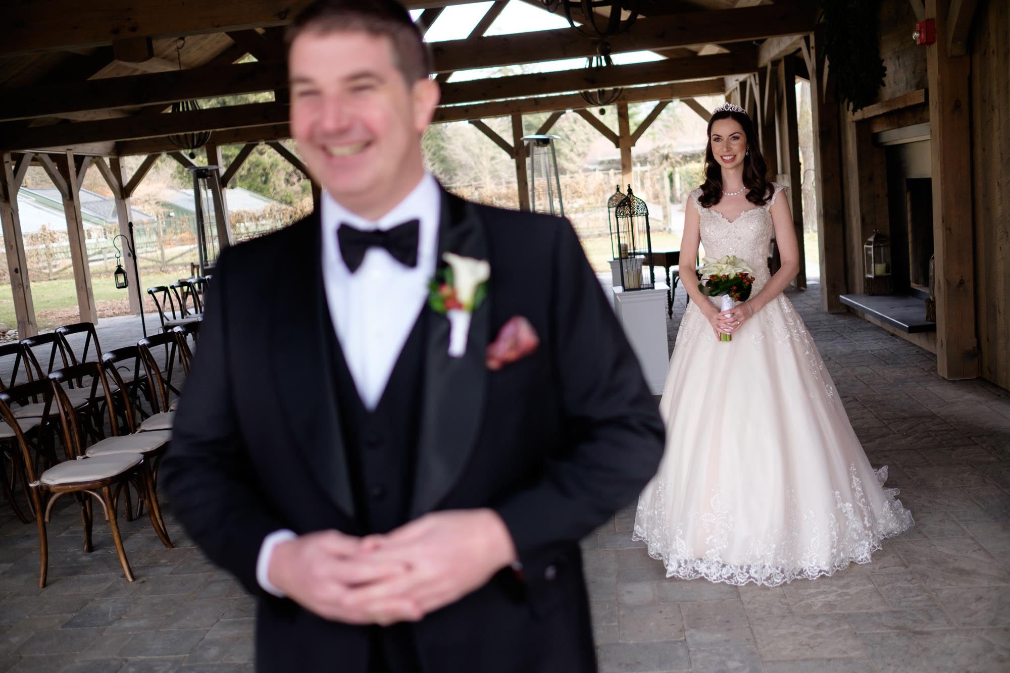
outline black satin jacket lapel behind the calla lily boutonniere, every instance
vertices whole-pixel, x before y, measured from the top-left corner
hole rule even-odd
[[[442,253],[489,260],[487,238],[473,204],[444,190],[438,229],[438,264]],[[491,268],[489,283],[495,282]],[[417,471],[411,518],[430,511],[445,496],[466,467],[484,417],[487,396],[485,351],[490,340],[491,293],[474,312],[467,353],[448,355],[448,319],[430,306],[417,445]]]

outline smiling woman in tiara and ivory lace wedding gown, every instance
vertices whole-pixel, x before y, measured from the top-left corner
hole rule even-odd
[[[735,105],[708,122],[705,184],[691,193],[681,259],[735,255],[758,271],[726,311],[690,295],[660,402],[667,451],[634,538],[667,577],[775,586],[869,563],[913,524],[885,489],[820,355],[783,294],[799,249],[783,187],[765,180],[753,126]],[[782,268],[767,265],[773,230]],[[732,334],[721,342],[720,333]]]

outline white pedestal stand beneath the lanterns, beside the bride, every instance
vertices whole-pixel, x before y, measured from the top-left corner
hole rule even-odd
[[[614,312],[638,357],[653,395],[663,394],[670,355],[667,352],[667,284],[651,290],[624,291],[614,287]]]

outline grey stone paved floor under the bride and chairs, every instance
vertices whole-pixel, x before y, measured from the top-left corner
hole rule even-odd
[[[1010,393],[940,379],[928,353],[821,313],[816,287],[791,297],[916,526],[831,578],[737,588],[665,579],[623,510],[584,543],[601,670],[1010,670]],[[121,338],[135,339],[126,326]],[[39,590],[35,528],[0,505],[0,671],[251,670],[254,606],[238,584],[178,525],[174,550],[145,519],[123,525],[135,582],[102,522],[95,551],[81,552],[79,517],[65,509]]]

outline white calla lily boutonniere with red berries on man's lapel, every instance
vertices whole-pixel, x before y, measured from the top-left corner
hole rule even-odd
[[[467,352],[470,319],[488,294],[491,265],[486,260],[442,255],[446,267],[431,279],[428,304],[448,318],[448,355],[462,358]]]

